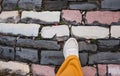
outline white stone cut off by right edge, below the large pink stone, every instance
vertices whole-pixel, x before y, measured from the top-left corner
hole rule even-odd
[[[120,37],[120,26],[111,26],[111,36],[114,38]]]

